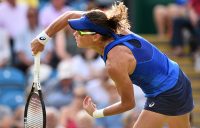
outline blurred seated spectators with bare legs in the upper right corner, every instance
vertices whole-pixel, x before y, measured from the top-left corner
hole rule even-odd
[[[168,5],[156,5],[153,15],[158,38],[167,36],[173,55],[190,56],[195,71],[200,72],[200,1],[174,0]]]

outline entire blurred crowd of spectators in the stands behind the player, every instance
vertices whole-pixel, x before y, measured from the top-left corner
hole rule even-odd
[[[105,10],[113,1],[0,0],[0,128],[24,127],[24,104],[33,80],[31,40],[64,12]],[[169,35],[176,56],[184,54],[185,36],[182,34],[185,31],[182,29],[190,30],[186,37],[190,37],[191,54],[199,61],[199,0],[177,0],[169,6],[155,6],[154,16],[159,38],[165,32]],[[132,111],[102,119],[91,118],[83,111],[82,101],[86,95],[92,97],[98,108],[120,100],[104,65],[93,50],[77,48],[71,28],[52,37],[42,52],[40,71],[47,128],[132,126],[145,102],[137,86],[134,88],[137,106]]]

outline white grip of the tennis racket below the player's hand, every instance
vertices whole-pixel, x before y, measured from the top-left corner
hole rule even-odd
[[[40,81],[40,52],[38,52],[34,56],[34,81],[35,83],[39,83]]]

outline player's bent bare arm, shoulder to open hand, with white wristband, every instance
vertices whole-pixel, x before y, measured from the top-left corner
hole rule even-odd
[[[108,60],[106,62],[106,67],[109,76],[114,80],[118,93],[121,96],[121,101],[108,106],[99,112],[97,116],[94,114],[96,107],[92,102],[91,98],[86,98],[83,102],[83,107],[86,111],[94,117],[102,117],[119,114],[128,111],[135,106],[133,85],[129,78],[135,69],[136,61],[133,57],[131,51],[124,46],[114,47],[108,54]],[[94,113],[93,113],[94,112]]]

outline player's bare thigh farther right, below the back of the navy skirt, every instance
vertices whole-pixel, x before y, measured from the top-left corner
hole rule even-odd
[[[187,113],[181,116],[169,116],[168,124],[169,124],[169,128],[191,128],[190,114]]]

